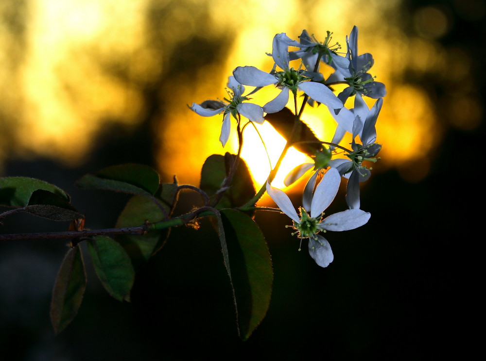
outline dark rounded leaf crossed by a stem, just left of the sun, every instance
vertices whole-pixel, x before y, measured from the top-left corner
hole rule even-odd
[[[206,159],[201,170],[200,188],[209,196],[213,196],[221,188],[236,155],[226,153],[225,156],[213,154]],[[255,196],[255,187],[246,163],[240,158],[230,188],[216,205],[217,209],[235,208],[245,204]]]

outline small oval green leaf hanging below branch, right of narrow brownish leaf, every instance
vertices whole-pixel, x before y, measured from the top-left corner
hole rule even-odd
[[[129,301],[135,270],[123,247],[111,238],[103,236],[87,240],[87,245],[94,269],[104,289],[119,301]]]

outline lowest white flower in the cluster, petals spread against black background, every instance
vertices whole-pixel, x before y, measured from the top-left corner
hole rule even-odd
[[[300,216],[295,211],[290,198],[280,189],[274,188],[267,182],[268,195],[277,203],[280,210],[294,221],[294,229],[300,238],[309,238],[309,254],[321,267],[327,267],[334,256],[328,241],[320,231],[353,230],[366,224],[370,213],[360,209],[348,209],[323,218],[323,212],[336,197],[341,183],[341,176],[337,169],[330,168],[322,181],[317,185],[313,195],[304,193],[304,204],[310,204],[311,214],[300,207]]]

